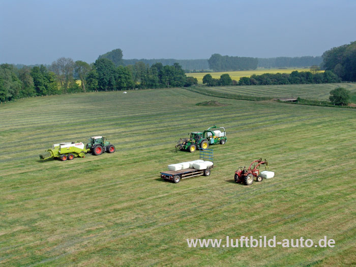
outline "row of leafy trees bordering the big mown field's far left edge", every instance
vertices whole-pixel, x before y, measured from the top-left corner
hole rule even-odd
[[[44,95],[181,87],[197,83],[197,79],[187,77],[177,63],[172,66],[156,63],[150,67],[137,62],[130,66],[116,67],[105,57],[98,58],[93,64],[61,57],[48,67],[23,66],[18,69],[11,64],[0,65],[1,102]]]

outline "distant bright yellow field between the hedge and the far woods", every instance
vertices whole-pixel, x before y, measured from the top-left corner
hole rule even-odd
[[[263,73],[291,73],[292,71],[309,71],[309,69],[304,68],[288,68],[288,69],[257,69],[257,70],[249,70],[249,71],[223,71],[223,72],[210,72],[215,79],[220,79],[222,74],[229,74],[232,80],[239,81],[241,77],[250,77],[252,74],[261,75]],[[203,83],[203,77],[208,74],[206,73],[187,73],[187,76],[193,76],[198,79],[198,83]]]

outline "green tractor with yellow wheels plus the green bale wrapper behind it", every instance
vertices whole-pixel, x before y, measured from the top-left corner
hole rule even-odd
[[[215,129],[215,130],[214,130]],[[175,145],[180,150],[193,153],[197,149],[205,150],[210,144],[225,144],[226,131],[224,127],[214,125],[203,132],[192,132],[189,138],[181,138]]]

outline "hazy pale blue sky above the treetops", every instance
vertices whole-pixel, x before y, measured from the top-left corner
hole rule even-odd
[[[356,1],[0,0],[0,63],[321,55],[356,40]]]

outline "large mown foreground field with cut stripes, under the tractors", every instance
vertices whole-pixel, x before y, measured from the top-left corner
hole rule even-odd
[[[228,106],[197,106],[217,100]],[[0,106],[0,265],[356,264],[356,110],[213,98],[184,89],[32,98]],[[217,124],[209,177],[164,182],[198,158],[174,144]],[[116,153],[39,161],[104,135]],[[238,166],[276,175],[243,186]],[[334,248],[188,248],[191,238],[334,239]]]

